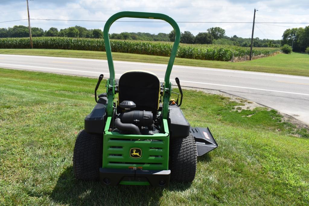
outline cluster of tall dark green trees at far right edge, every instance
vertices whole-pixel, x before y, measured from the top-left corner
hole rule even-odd
[[[290,45],[295,52],[305,52],[309,47],[309,26],[286,29],[283,32],[281,44]]]

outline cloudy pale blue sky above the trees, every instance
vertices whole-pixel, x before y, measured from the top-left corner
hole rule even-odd
[[[260,39],[281,39],[288,28],[309,26],[308,0],[33,0],[29,1],[31,19],[64,19],[64,20],[107,20],[120,11],[141,11],[163,13],[178,23],[180,31],[190,31],[194,35],[206,32],[210,27],[225,29],[226,36],[250,38],[252,23],[192,23],[192,22],[252,22],[256,8],[254,37]],[[26,0],[0,0],[0,28],[14,25],[28,26]],[[134,21],[137,19],[123,18],[119,20]],[[143,20],[143,19],[141,19]],[[172,27],[165,22],[115,22],[110,33],[149,32],[157,34],[169,33]],[[157,21],[157,20],[155,20]],[[282,22],[282,23],[281,23]],[[280,23],[280,24],[278,24]],[[307,23],[307,24],[287,24]],[[100,28],[105,22],[87,21],[54,21],[31,20],[32,27],[48,30],[50,27],[67,28],[75,25],[87,29]],[[265,25],[267,24],[267,25]]]

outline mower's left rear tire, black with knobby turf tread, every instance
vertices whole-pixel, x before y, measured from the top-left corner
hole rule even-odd
[[[85,130],[79,132],[73,153],[73,170],[77,179],[99,180],[102,151],[102,135],[91,135]]]

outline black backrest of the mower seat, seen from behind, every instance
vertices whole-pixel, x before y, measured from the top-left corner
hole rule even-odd
[[[133,101],[138,110],[156,112],[159,109],[160,81],[152,72],[128,71],[118,83],[119,103]]]

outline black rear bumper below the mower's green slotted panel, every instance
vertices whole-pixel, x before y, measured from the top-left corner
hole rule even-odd
[[[167,187],[171,170],[132,170],[100,168],[100,182],[105,185],[148,185]]]

